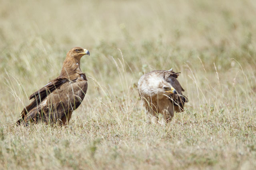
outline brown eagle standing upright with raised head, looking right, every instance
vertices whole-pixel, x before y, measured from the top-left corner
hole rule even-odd
[[[16,124],[68,124],[72,112],[82,103],[88,87],[86,75],[80,69],[80,59],[84,55],[90,53],[81,47],[68,51],[60,75],[29,97],[34,100],[22,110]]]

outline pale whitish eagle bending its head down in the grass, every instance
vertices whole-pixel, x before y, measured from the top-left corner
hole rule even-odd
[[[184,103],[188,99],[182,95],[184,89],[177,80],[179,74],[172,69],[154,70],[140,77],[138,92],[148,117],[152,117],[154,123],[158,121],[160,113],[169,122],[174,111],[184,111]]]

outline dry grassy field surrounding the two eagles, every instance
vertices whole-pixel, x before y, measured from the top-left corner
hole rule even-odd
[[[0,169],[255,169],[254,0],[0,0]],[[81,59],[68,127],[14,126],[28,96]],[[182,72],[189,102],[147,124],[136,83]]]

